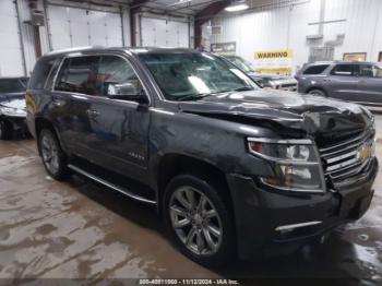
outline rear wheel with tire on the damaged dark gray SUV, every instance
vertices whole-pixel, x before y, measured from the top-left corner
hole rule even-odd
[[[38,135],[38,148],[46,171],[56,180],[64,180],[70,175],[67,155],[63,153],[56,134],[43,129]]]

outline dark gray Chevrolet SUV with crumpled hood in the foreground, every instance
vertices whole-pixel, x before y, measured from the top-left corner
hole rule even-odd
[[[155,205],[179,249],[205,265],[306,243],[361,217],[373,196],[366,108],[259,88],[208,52],[49,53],[26,104],[52,178],[74,171]]]

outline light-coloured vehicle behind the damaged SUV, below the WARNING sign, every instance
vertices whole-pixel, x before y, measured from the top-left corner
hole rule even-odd
[[[244,71],[261,87],[297,92],[297,81],[291,76],[255,72],[252,64],[239,56],[224,56],[224,58]]]

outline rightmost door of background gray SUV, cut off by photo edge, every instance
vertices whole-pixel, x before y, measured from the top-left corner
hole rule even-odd
[[[377,64],[358,64],[356,74],[359,92],[357,102],[382,106],[382,69]]]

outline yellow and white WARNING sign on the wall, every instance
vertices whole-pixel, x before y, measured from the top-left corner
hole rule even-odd
[[[267,50],[254,52],[254,68],[261,73],[290,75],[293,70],[294,51]]]

